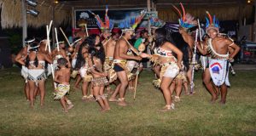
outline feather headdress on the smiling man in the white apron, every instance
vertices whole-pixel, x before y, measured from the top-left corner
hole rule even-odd
[[[207,11],[207,16],[208,18],[206,17],[206,20],[207,20],[206,31],[210,29],[215,29],[216,31],[219,31],[219,21],[215,17],[215,15],[213,15],[213,19],[212,19],[212,15]]]

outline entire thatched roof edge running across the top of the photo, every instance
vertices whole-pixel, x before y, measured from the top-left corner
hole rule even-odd
[[[110,9],[117,8],[146,8],[147,0],[58,0],[55,7],[55,24],[71,23],[71,8],[103,9],[108,4]],[[161,20],[177,21],[177,13],[172,4],[183,3],[186,11],[195,17],[204,19],[206,10],[216,14],[219,20],[242,20],[253,16],[253,3],[246,0],[152,0],[155,2]],[[49,24],[52,20],[53,0],[38,0],[38,17],[27,14],[28,26],[39,27]],[[2,6],[1,6],[2,4]],[[21,27],[20,0],[0,0],[1,25],[3,28]]]

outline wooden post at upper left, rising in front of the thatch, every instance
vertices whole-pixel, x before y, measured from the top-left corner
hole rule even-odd
[[[27,37],[27,26],[26,26],[26,1],[21,1],[22,6],[22,46],[25,46],[25,38]]]

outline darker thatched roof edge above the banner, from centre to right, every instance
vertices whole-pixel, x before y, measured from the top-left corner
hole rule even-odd
[[[59,0],[67,6],[79,9],[103,9],[108,5],[110,9],[116,8],[147,8],[147,0]],[[241,20],[253,16],[253,1],[246,0],[151,0],[154,1],[160,19],[177,21],[177,13],[172,4],[179,6],[183,3],[186,11],[194,16],[204,19],[206,11],[216,14],[219,20]]]

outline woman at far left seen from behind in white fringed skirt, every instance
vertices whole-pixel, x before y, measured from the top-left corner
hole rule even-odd
[[[28,53],[23,58],[20,58],[18,62],[21,65],[26,65],[28,68],[27,71],[27,80],[29,85],[29,98],[31,107],[34,106],[34,91],[36,86],[40,90],[40,105],[44,105],[44,95],[45,95],[45,71],[44,65],[45,61],[48,61],[50,64],[52,60],[49,56],[38,51],[39,45],[38,42],[33,42],[28,48]]]

